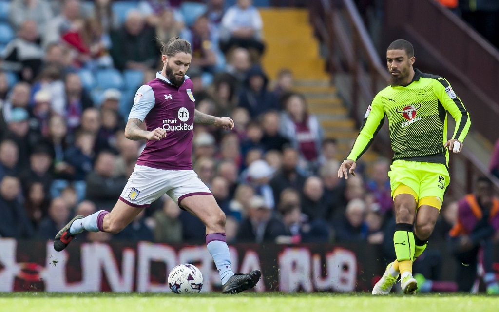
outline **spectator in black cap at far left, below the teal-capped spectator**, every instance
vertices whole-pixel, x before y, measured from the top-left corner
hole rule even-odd
[[[45,192],[48,192],[52,184],[50,167],[52,165],[52,153],[48,146],[39,143],[35,145],[29,156],[29,167],[24,169],[19,179],[23,189],[32,181],[38,181],[43,185]]]

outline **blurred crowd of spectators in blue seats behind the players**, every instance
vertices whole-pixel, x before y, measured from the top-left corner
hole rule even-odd
[[[269,80],[258,10],[232,2],[2,2],[0,237],[53,239],[74,215],[112,209],[145,144],[124,137],[134,94],[161,70],[161,41],[180,36],[193,47],[197,109],[236,124],[196,126],[193,141],[194,170],[226,213],[228,242],[368,242],[394,258],[390,160],[360,161],[355,178],[340,180],[346,155],[308,113],[290,70]],[[457,224],[458,200],[446,200],[431,241]],[[165,195],[123,232],[78,240],[204,236]]]

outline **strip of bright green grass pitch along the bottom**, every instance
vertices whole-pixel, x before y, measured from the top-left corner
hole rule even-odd
[[[0,294],[1,312],[488,312],[499,297],[369,294]]]

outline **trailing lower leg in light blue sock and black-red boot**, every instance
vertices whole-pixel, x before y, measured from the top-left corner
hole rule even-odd
[[[99,210],[88,217],[83,218],[82,215],[77,215],[68,224],[66,224],[54,238],[54,249],[55,251],[62,251],[69,245],[71,240],[84,230],[90,232],[102,231],[102,222],[104,216],[109,212],[105,210]]]

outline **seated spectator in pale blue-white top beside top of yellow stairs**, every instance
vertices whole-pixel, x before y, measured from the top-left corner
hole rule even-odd
[[[236,5],[229,7],[222,18],[222,51],[227,52],[234,46],[242,46],[250,49],[256,60],[265,48],[262,27],[260,13],[251,0],[237,0]]]

